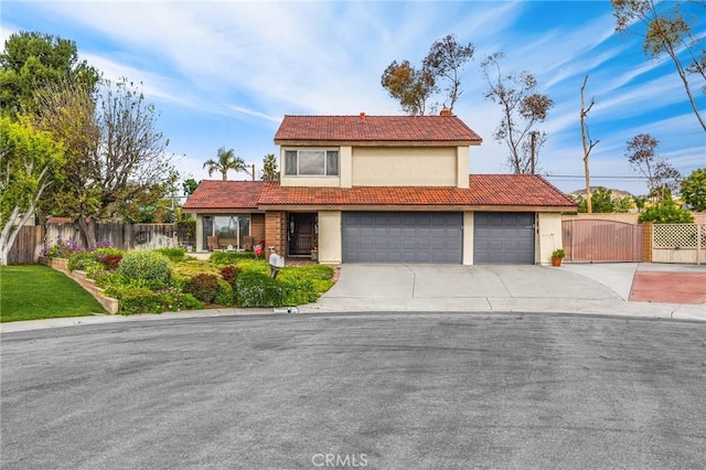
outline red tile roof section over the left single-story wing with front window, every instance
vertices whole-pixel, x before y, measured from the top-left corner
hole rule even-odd
[[[247,209],[256,210],[263,188],[279,185],[270,181],[203,180],[184,203],[186,210]]]

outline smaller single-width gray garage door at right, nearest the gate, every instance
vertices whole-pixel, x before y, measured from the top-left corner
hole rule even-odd
[[[473,264],[533,265],[534,213],[477,212]]]

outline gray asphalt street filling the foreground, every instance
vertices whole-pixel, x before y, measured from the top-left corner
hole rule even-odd
[[[231,316],[0,340],[6,470],[704,466],[704,322]]]

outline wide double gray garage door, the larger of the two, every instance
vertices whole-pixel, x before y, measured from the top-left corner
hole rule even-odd
[[[344,212],[343,263],[461,263],[461,213]]]

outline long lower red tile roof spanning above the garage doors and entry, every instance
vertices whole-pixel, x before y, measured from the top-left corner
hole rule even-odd
[[[575,210],[576,203],[534,174],[471,174],[470,188],[439,186],[280,186],[277,182],[204,181],[186,210],[269,209],[287,206],[474,206]],[[258,184],[259,183],[259,184]]]

